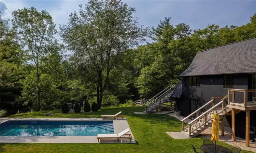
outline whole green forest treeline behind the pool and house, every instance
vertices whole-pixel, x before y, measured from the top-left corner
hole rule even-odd
[[[99,108],[148,99],[179,82],[198,51],[256,37],[256,14],[241,27],[192,30],[169,17],[157,27],[139,26],[135,8],[122,1],[78,7],[58,30],[46,10],[34,7],[1,18],[1,109],[13,114],[85,99]],[[139,45],[146,38],[152,43]]]

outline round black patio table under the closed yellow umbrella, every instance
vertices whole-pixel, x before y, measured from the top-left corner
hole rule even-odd
[[[216,150],[215,150],[215,145],[202,145],[200,149],[204,152],[207,153],[232,153],[232,151],[226,147],[216,145]]]

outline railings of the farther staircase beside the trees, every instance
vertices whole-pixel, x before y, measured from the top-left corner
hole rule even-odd
[[[148,111],[148,106],[154,104],[157,102],[157,100],[161,100],[162,97],[164,97],[165,95],[167,95],[169,92],[171,92],[172,90],[175,89],[176,84],[172,84],[170,86],[168,86],[167,88],[163,89],[161,92],[159,92],[156,96],[154,96],[153,98],[151,98],[150,100],[148,100],[147,102],[145,102],[143,104],[143,111],[145,111],[145,106],[146,106],[146,112]],[[161,95],[160,95],[161,94]],[[160,95],[160,96],[159,96]],[[155,99],[154,99],[155,98]]]

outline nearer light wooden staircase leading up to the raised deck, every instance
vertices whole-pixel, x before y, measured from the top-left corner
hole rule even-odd
[[[216,112],[219,115],[219,119],[221,120],[224,115],[230,115],[231,108],[227,107],[226,99],[228,95],[225,97],[213,97],[211,101],[197,109],[195,112],[191,113],[189,116],[182,120],[182,133],[188,137],[196,137],[205,129],[212,126],[212,116]],[[220,102],[216,103],[217,99],[221,99]],[[209,108],[210,106],[210,108]],[[209,109],[205,109],[209,108]],[[204,112],[203,112],[204,111]],[[235,113],[239,113],[237,111]],[[199,113],[202,113],[201,115]],[[191,122],[188,123],[187,126],[184,127],[184,121],[188,118],[191,118],[193,115],[196,114],[196,118],[193,119]]]

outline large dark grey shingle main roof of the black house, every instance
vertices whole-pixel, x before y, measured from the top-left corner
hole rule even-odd
[[[256,73],[256,37],[200,51],[180,77]]]

